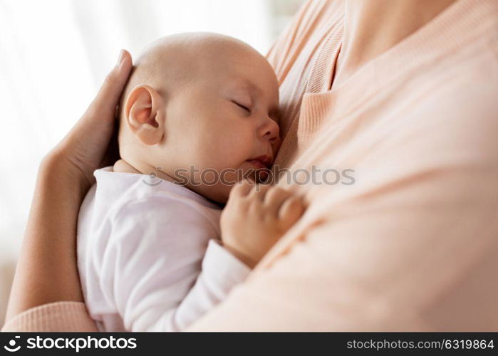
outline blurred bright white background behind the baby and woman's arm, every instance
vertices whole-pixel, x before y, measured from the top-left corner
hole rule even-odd
[[[38,164],[84,112],[120,48],[213,31],[263,54],[303,0],[0,0],[0,325]]]

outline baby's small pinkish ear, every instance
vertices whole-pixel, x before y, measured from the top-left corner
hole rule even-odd
[[[126,122],[144,145],[155,145],[162,140],[164,116],[162,97],[149,85],[138,85],[126,98]]]

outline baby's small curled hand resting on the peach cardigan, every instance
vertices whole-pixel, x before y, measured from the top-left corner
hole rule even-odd
[[[223,246],[253,268],[304,209],[299,197],[280,187],[237,184],[222,212]]]

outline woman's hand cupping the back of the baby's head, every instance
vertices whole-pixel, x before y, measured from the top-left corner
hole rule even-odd
[[[83,191],[93,184],[93,171],[118,159],[116,107],[132,68],[128,51],[121,51],[98,95],[70,132],[44,159],[43,164],[66,164],[66,173],[76,174]],[[71,171],[71,172],[68,172]]]

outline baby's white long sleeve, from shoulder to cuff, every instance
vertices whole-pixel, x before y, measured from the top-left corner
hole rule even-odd
[[[212,240],[209,221],[184,201],[136,201],[110,219],[100,288],[126,330],[183,330],[250,272]]]

